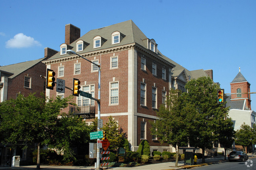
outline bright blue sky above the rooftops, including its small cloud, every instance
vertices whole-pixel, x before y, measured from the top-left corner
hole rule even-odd
[[[241,73],[256,92],[256,0],[0,0],[0,66],[59,51],[65,24],[81,36],[126,20],[154,38],[163,55],[189,70],[213,69],[230,93]],[[256,94],[251,95],[256,110]]]

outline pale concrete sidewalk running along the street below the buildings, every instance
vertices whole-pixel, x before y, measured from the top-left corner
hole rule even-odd
[[[251,157],[256,157],[256,154],[248,154],[249,159]],[[226,161],[228,161],[228,157],[226,157]],[[224,156],[221,157],[209,157],[205,159],[205,164],[212,164],[212,163],[220,163],[225,162]],[[201,166],[202,159],[197,160],[197,165],[193,166]],[[175,162],[169,163],[158,163],[158,164],[151,164],[151,165],[143,165],[137,167],[108,167],[111,170],[180,170],[183,168],[190,168],[191,165],[184,165],[184,161],[179,161],[178,166],[174,167]],[[103,167],[106,169],[106,167]],[[35,170],[36,165],[30,166],[19,166],[19,167],[7,167],[7,166],[0,166],[0,170]],[[40,169],[42,170],[94,170],[94,166],[46,166],[41,165]]]

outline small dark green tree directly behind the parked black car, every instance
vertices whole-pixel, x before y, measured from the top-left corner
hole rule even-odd
[[[218,141],[224,148],[224,160],[226,160],[226,150],[230,148],[234,142],[235,131],[231,119],[221,119],[220,127],[218,128]]]

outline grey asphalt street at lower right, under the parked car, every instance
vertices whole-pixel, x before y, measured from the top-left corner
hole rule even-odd
[[[245,162],[223,162],[208,166],[195,167],[197,170],[256,170],[256,158],[252,158]]]

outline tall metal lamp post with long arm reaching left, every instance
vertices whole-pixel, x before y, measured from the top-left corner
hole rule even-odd
[[[94,62],[88,60],[87,58],[84,58],[82,57],[81,55],[77,54],[75,51],[71,50],[71,49],[68,49],[67,50],[67,53],[69,55],[72,55],[72,54],[75,54],[75,55],[78,55],[79,57],[91,62],[92,64],[98,66],[98,100],[95,100],[97,101],[98,103],[98,119],[100,119],[100,65],[98,64],[95,64]],[[98,128],[98,131],[100,131],[100,128]],[[96,161],[96,170],[99,170],[100,169],[100,148],[98,147],[98,141],[100,139],[97,139],[97,161]]]

